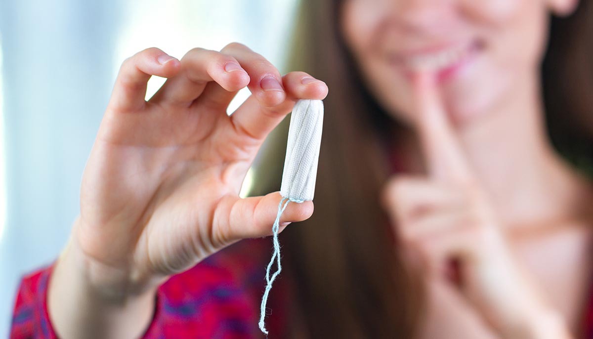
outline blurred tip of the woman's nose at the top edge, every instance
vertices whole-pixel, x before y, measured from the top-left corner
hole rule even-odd
[[[433,34],[446,31],[455,14],[455,1],[452,0],[392,1],[394,21],[409,32]]]

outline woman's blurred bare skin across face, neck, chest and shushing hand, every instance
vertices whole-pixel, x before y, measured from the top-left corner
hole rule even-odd
[[[547,15],[575,5],[344,4],[343,35],[366,85],[413,130],[404,156],[423,167],[392,178],[383,197],[406,263],[426,283],[421,338],[578,334],[590,184],[547,140],[538,79]],[[459,44],[473,55],[446,75],[405,62]]]

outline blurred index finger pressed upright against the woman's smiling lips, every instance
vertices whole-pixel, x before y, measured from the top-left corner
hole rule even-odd
[[[417,129],[430,175],[437,180],[470,180],[470,168],[442,105],[435,76],[416,74],[413,93]]]

